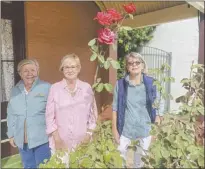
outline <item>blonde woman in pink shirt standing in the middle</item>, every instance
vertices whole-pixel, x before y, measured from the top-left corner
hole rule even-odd
[[[91,86],[78,79],[81,64],[75,54],[61,60],[62,81],[50,88],[46,106],[46,132],[52,150],[71,150],[87,142],[96,126],[97,107]]]

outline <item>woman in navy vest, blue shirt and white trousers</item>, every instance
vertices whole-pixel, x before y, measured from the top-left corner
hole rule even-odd
[[[132,140],[140,146],[134,155],[134,168],[143,166],[142,155],[147,150],[151,136],[151,122],[159,121],[152,104],[157,97],[153,78],[146,75],[147,65],[140,54],[132,52],[126,56],[126,75],[118,80],[113,98],[112,131],[119,151],[126,160],[127,147]],[[161,104],[161,112],[163,112]]]

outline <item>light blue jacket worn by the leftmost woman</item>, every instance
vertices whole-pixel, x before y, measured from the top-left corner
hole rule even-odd
[[[26,95],[23,81],[12,89],[7,107],[7,135],[14,137],[15,144],[23,148],[24,121],[26,120],[28,147],[34,148],[48,142],[45,109],[50,84],[36,79]]]

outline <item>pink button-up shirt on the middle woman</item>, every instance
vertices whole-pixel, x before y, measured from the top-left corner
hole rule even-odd
[[[55,130],[71,149],[84,139],[87,129],[95,128],[96,120],[96,102],[88,83],[77,80],[74,96],[69,93],[65,79],[51,86],[46,106],[46,132],[51,149],[55,150],[51,135]]]

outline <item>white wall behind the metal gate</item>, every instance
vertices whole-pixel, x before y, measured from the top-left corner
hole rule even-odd
[[[185,93],[180,83],[182,78],[189,77],[192,60],[198,60],[198,18],[192,18],[172,23],[158,25],[153,33],[153,39],[147,46],[172,52],[171,75],[175,83],[171,85],[171,110],[177,110],[179,104],[175,99]]]

